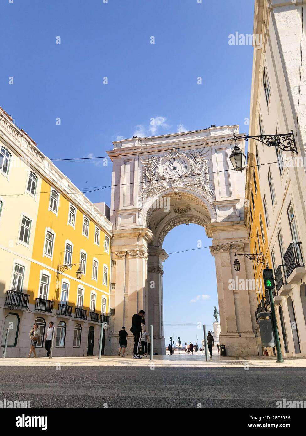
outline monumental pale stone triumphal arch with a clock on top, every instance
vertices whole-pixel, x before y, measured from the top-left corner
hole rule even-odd
[[[238,126],[120,140],[108,154],[113,162],[111,221],[112,286],[107,354],[118,352],[118,332],[130,333],[134,313],[144,309],[146,327],[154,329],[154,351],[165,354],[162,275],[168,255],[162,248],[177,225],[196,223],[212,238],[215,258],[220,344],[227,355],[257,355],[255,290],[233,289],[238,279],[252,279],[251,261],[234,252],[249,252],[244,225],[245,173],[229,161]],[[244,142],[239,145],[244,150]],[[180,266],[178,265],[178,268]],[[188,272],[190,276],[192,271]],[[203,283],[205,283],[203,266]],[[241,286],[239,286],[241,288]],[[111,315],[112,315],[111,313]],[[132,350],[132,338],[128,341]],[[130,353],[129,353],[130,354]]]

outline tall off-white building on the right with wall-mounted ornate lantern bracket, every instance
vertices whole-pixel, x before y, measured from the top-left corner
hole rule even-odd
[[[301,32],[301,5],[298,0],[256,0],[254,14],[254,34],[261,35],[262,45],[254,47],[249,134],[292,130],[298,152],[249,141],[249,153],[259,168],[269,267],[275,272],[275,310],[285,356],[306,355],[306,7]],[[300,58],[301,34],[304,50]]]

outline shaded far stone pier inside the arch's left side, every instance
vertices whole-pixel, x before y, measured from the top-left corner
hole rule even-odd
[[[168,255],[165,250],[148,246],[148,328],[153,325],[153,350],[165,354],[162,307],[162,262]],[[148,330],[147,330],[148,331]]]

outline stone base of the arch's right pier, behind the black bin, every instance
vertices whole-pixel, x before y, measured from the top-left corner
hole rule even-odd
[[[227,356],[258,356],[254,333],[220,333],[220,345],[225,345]]]

